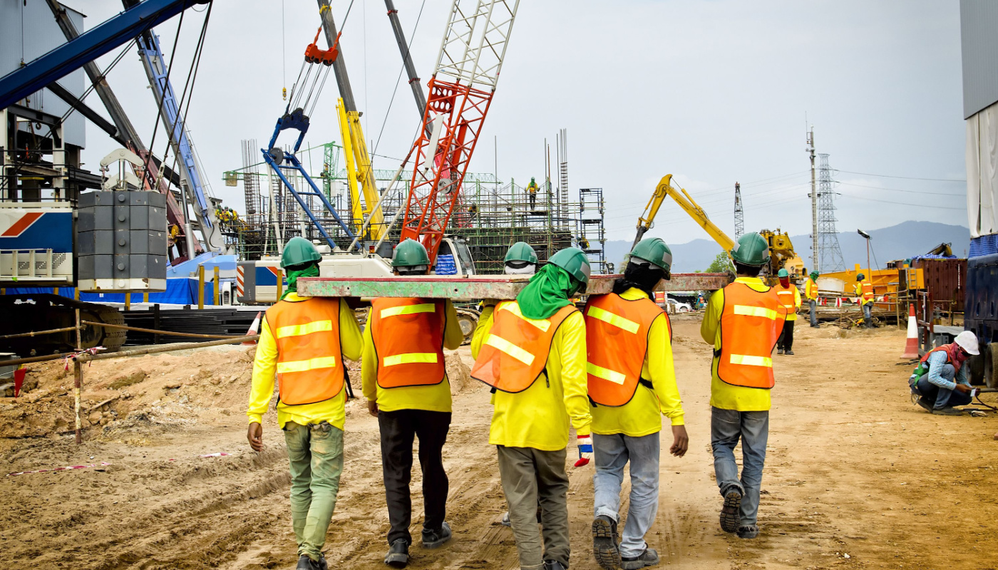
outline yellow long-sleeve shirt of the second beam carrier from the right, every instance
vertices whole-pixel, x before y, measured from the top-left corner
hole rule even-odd
[[[626,300],[648,298],[648,293],[639,288],[629,288],[621,293]],[[653,388],[638,384],[631,401],[622,406],[593,406],[593,433],[611,435],[623,433],[631,437],[641,437],[662,431],[662,417],[668,417],[673,425],[683,425],[683,402],[680,389],[676,385],[676,372],[673,367],[673,345],[669,337],[668,317],[665,313],[655,317],[648,331],[648,351],[641,367],[641,377],[652,380]]]

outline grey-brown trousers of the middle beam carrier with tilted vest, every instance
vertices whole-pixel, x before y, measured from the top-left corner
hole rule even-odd
[[[509,522],[520,553],[520,566],[539,568],[545,560],[568,567],[568,473],[566,450],[497,445],[499,478],[509,505]],[[544,527],[543,548],[537,506]]]

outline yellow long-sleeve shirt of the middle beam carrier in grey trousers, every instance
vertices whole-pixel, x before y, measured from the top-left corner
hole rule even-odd
[[[475,327],[471,355],[476,358],[492,330],[493,309],[487,306]],[[551,341],[546,370],[546,374],[542,372],[522,392],[497,390],[492,394],[490,444],[542,451],[564,449],[568,445],[570,420],[578,435],[590,433],[593,418],[587,395],[586,323],[582,312],[573,312],[558,327]]]

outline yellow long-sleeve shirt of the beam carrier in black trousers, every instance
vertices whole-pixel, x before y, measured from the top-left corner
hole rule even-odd
[[[443,321],[443,347],[456,350],[464,341],[461,324],[457,320],[454,304],[447,299]],[[382,388],[377,384],[377,351],[371,338],[371,312],[367,313],[367,324],[364,326],[364,349],[360,360],[360,378],[363,384],[364,397],[377,402],[377,407],[383,411],[399,409],[425,409],[429,411],[450,411],[450,380],[445,373],[439,384],[425,386],[403,386],[398,388]]]

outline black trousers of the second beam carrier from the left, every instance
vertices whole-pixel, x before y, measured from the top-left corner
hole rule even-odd
[[[447,514],[447,473],[443,470],[441,451],[450,429],[450,412],[424,409],[379,411],[377,423],[381,431],[384,496],[391,523],[388,544],[400,538],[412,544],[409,534],[412,522],[409,481],[412,479],[413,437],[419,437],[419,467],[423,472],[423,528],[439,530]]]

